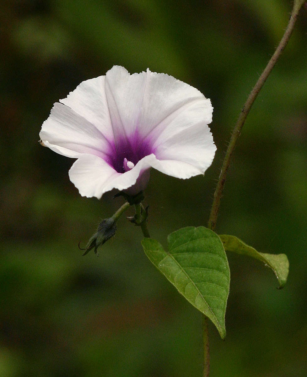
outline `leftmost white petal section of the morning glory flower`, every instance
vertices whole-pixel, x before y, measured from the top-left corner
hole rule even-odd
[[[92,153],[108,161],[111,146],[101,132],[70,107],[55,103],[41,127],[40,138],[53,151],[67,157]]]

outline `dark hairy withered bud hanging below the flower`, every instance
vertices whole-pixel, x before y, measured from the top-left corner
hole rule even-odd
[[[79,242],[79,249],[84,250],[82,255],[86,255],[90,250],[94,249],[95,254],[98,256],[98,247],[113,237],[115,235],[115,231],[116,220],[113,217],[102,220],[102,222],[98,225],[97,231],[89,239],[85,248],[81,248]]]

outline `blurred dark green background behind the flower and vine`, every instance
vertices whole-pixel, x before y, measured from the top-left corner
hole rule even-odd
[[[288,0],[4,0],[0,5],[0,376],[201,375],[201,314],[151,265],[124,218],[82,257],[122,204],[82,198],[73,160],[38,144],[54,102],[114,64],[149,67],[211,98],[217,153],[205,178],[152,171],[151,235],[206,225],[231,129],[282,37]],[[290,274],[229,254],[223,342],[210,324],[211,376],[307,375],[307,11],[247,118],[217,232],[286,253]]]

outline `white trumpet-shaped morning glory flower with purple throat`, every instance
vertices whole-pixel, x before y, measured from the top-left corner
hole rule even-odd
[[[82,196],[100,199],[114,188],[134,195],[151,167],[177,178],[205,172],[216,150],[212,110],[199,90],[174,77],[114,66],[55,103],[40,138],[77,159],[69,178]]]

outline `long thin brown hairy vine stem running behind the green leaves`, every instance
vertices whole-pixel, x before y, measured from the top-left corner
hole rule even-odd
[[[266,79],[269,77],[270,72],[272,71],[273,67],[275,66],[278,58],[280,57],[281,53],[283,52],[284,48],[286,47],[289,38],[292,34],[292,31],[295,26],[296,19],[298,17],[299,10],[302,8],[302,6],[305,6],[306,3],[305,0],[294,0],[293,3],[293,9],[291,12],[291,17],[289,20],[289,23],[287,25],[287,28],[284,32],[283,38],[281,38],[280,43],[278,44],[274,54],[272,55],[269,63],[267,63],[267,66],[265,67],[264,71],[262,72],[261,76],[259,77],[256,85],[250,92],[249,97],[246,100],[246,103],[243,106],[243,109],[240,112],[240,115],[238,117],[238,121],[234,127],[234,130],[232,131],[232,135],[228,144],[228,148],[226,150],[225,158],[223,161],[223,165],[221,168],[221,173],[218,178],[217,186],[214,192],[214,198],[212,202],[211,207],[211,213],[209,216],[208,221],[208,228],[211,230],[215,230],[216,222],[217,222],[217,216],[218,216],[218,210],[220,209],[220,202],[221,202],[221,196],[223,194],[223,189],[225,185],[226,175],[228,172],[228,168],[231,162],[232,154],[234,152],[237,140],[240,136],[242,127],[244,125],[244,122],[246,120],[246,117],[258,95],[261,88],[263,87],[263,84],[266,82]],[[210,357],[209,357],[209,334],[208,334],[208,317],[205,315],[203,316],[203,350],[204,350],[204,368],[203,368],[203,377],[208,377],[210,372]]]

